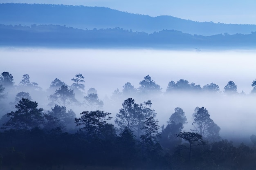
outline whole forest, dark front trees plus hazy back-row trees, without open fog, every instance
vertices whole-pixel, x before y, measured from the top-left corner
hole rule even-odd
[[[96,89],[85,93],[84,78],[75,75],[70,86],[56,78],[43,90],[27,74],[18,85],[11,73],[0,75],[0,169],[255,169],[256,135],[248,136],[249,146],[234,144],[220,136],[221,126],[204,107],[195,108],[190,130],[184,130],[191,122],[179,107],[160,128],[150,97],[173,93],[254,96],[256,80],[250,94],[238,93],[232,81],[221,91],[214,83],[201,87],[184,79],[170,81],[163,92],[147,75],[139,88],[127,82],[103,102]],[[104,111],[105,105],[114,107],[113,103],[119,107],[117,112]],[[83,111],[76,113],[77,108]]]

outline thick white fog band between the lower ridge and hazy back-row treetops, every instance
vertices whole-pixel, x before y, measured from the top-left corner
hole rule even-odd
[[[23,74],[29,74],[31,81],[46,89],[56,77],[69,84],[74,75],[81,73],[85,87],[94,87],[103,96],[111,95],[126,82],[136,88],[146,75],[163,91],[171,80],[186,79],[201,87],[214,82],[221,91],[231,80],[238,92],[248,94],[256,77],[255,51],[2,48],[0,56],[1,70],[11,73],[16,85]]]

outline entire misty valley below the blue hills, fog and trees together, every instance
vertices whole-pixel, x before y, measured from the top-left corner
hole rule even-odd
[[[1,169],[255,169],[255,51],[0,56]]]

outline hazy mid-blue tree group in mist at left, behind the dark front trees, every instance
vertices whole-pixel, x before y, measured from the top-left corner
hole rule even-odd
[[[44,100],[44,103],[45,100],[48,100],[47,106],[49,107],[54,107],[56,104],[65,108],[83,106],[87,110],[94,110],[94,108],[101,109],[103,107],[103,101],[99,99],[97,91],[94,88],[90,88],[87,94],[85,94],[85,81],[82,74],[77,74],[71,80],[73,84],[68,86],[65,82],[55,78],[45,92],[37,83],[30,82],[28,74],[22,76],[18,85],[14,85],[13,76],[9,72],[3,72],[0,75],[2,112],[12,110],[14,108],[13,106],[22,98],[31,100],[31,94],[35,98],[40,96],[39,98],[41,101]],[[13,98],[15,100],[11,101]],[[6,101],[9,101],[9,103],[5,103]]]

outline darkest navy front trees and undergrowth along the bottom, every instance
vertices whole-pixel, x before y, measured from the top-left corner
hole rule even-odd
[[[175,108],[159,131],[151,102],[136,104],[128,98],[109,123],[111,113],[83,111],[81,117],[56,105],[47,114],[36,102],[22,98],[16,111],[0,132],[0,166],[25,169],[72,168],[84,166],[122,169],[171,170],[253,170],[256,149],[245,144],[234,146],[220,139],[220,128],[204,107],[195,108],[193,129],[184,111]],[[72,120],[76,131],[65,132]],[[251,136],[256,144],[255,135]]]

